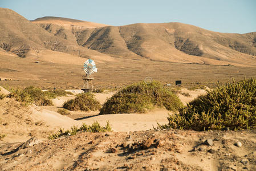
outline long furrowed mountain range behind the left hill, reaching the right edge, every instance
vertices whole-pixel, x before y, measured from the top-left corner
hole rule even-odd
[[[55,36],[80,46],[120,58],[169,62],[255,64],[256,32],[227,34],[183,23],[137,23],[127,26],[84,28],[75,22],[66,27],[54,19],[32,21]],[[72,20],[71,20],[72,21]],[[70,22],[71,22],[70,21]],[[76,27],[73,27],[75,26]],[[196,57],[197,56],[197,57]],[[198,57],[200,56],[200,57]]]

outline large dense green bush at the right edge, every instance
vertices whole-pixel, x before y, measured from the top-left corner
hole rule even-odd
[[[256,79],[227,83],[207,92],[176,115],[169,115],[169,123],[158,128],[196,131],[256,128]]]

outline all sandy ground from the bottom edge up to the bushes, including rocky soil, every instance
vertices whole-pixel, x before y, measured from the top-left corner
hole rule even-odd
[[[184,104],[205,93],[181,92],[191,95],[178,95]],[[95,96],[103,104],[113,93]],[[72,98],[58,97],[52,107],[22,107],[14,99],[0,100],[0,130],[6,135],[0,140],[0,170],[256,170],[255,131],[149,130],[157,121],[167,122],[169,112],[164,109],[100,116],[97,111],[70,116],[55,112]],[[114,132],[47,139],[59,127],[94,121],[104,125],[107,120]]]

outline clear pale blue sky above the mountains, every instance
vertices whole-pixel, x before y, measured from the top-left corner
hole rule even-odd
[[[113,26],[181,22],[219,32],[256,31],[256,0],[0,0],[32,20],[54,16]]]

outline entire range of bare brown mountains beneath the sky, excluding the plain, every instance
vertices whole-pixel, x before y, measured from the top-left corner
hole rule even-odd
[[[28,21],[13,10],[0,13],[0,48],[20,57],[52,50],[83,58],[256,66],[256,32],[221,33],[179,22],[108,26],[60,17]]]

